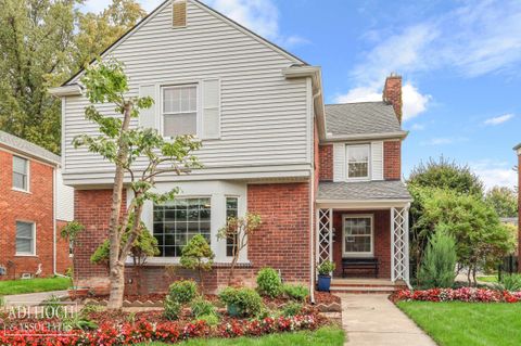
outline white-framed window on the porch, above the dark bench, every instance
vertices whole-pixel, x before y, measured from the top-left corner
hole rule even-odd
[[[373,255],[372,215],[344,216],[342,251],[344,256]]]

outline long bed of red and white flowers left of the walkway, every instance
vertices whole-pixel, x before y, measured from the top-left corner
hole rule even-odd
[[[258,320],[229,320],[215,328],[211,328],[204,321],[152,323],[141,319],[135,323],[105,322],[96,331],[75,330],[63,336],[56,335],[55,330],[46,328],[41,328],[37,332],[1,330],[0,345],[118,346],[149,342],[177,343],[194,337],[259,336],[279,332],[315,330],[323,323],[325,319],[315,313],[277,319],[267,317]],[[14,334],[16,335],[14,336]],[[51,341],[52,343],[49,344]]]

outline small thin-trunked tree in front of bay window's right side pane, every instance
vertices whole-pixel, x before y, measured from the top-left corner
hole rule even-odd
[[[231,260],[228,284],[231,284],[231,281],[233,280],[233,271],[239,261],[241,251],[247,246],[249,238],[258,230],[262,220],[259,215],[246,213],[243,218],[228,218],[226,226],[218,231],[218,239],[228,239],[232,241],[233,244],[233,258]]]

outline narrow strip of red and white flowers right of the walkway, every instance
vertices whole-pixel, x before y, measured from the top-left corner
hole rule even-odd
[[[402,290],[391,296],[393,302],[468,302],[468,303],[520,303],[521,292],[490,289],[431,289],[422,291]]]

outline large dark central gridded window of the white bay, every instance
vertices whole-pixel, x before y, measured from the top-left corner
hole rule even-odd
[[[160,256],[180,257],[182,247],[202,234],[211,243],[211,198],[176,198],[154,205],[154,230]]]

